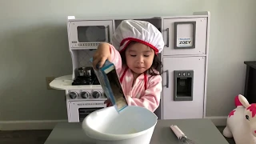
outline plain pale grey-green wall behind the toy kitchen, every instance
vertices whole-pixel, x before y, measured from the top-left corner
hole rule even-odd
[[[243,93],[243,62],[256,60],[255,6],[255,0],[0,1],[0,121],[66,119],[64,91],[47,90],[45,77],[72,73],[68,15],[159,16],[201,10],[211,13],[206,116],[226,116],[234,96]]]

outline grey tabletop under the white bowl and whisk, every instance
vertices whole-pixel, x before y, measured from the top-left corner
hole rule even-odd
[[[210,119],[171,119],[158,120],[150,144],[178,144],[178,138],[170,125],[177,125],[184,134],[197,144],[229,144]],[[82,130],[81,122],[58,123],[45,144],[95,144]]]

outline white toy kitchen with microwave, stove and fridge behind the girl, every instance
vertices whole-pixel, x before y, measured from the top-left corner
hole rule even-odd
[[[111,43],[124,19],[151,22],[162,32],[162,98],[159,119],[205,118],[210,12],[150,18],[78,19],[69,16],[67,34],[73,74],[55,78],[50,87],[66,91],[68,122],[82,122],[106,107],[106,96],[89,59],[100,42]]]

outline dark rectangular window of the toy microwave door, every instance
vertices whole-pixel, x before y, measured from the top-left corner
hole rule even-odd
[[[78,26],[78,42],[106,42],[106,26]]]

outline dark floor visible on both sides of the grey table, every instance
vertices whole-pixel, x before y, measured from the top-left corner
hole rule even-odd
[[[224,129],[218,126],[218,130]],[[0,144],[43,144],[51,130],[18,130],[0,131]],[[233,138],[226,138],[230,144],[235,144]]]

